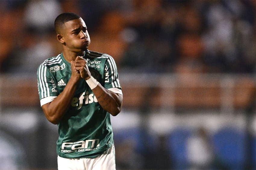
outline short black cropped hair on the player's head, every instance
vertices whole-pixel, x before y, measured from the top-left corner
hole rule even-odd
[[[59,34],[60,29],[64,25],[64,23],[71,21],[71,20],[76,20],[79,18],[80,18],[79,15],[72,13],[72,12],[65,12],[65,13],[58,15],[58,17],[54,21],[55,31],[57,32],[57,34]]]

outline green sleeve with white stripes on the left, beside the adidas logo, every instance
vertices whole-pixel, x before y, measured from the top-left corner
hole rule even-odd
[[[49,69],[43,63],[38,67],[37,70],[37,85],[40,100],[45,97],[59,95],[55,81]]]

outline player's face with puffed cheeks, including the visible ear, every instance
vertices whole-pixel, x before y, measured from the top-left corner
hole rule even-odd
[[[70,51],[85,51],[91,40],[83,19],[79,18],[66,22],[61,31],[61,40],[61,43]],[[59,41],[61,40],[59,39]]]

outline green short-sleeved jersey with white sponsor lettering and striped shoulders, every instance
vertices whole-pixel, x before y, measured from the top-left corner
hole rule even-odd
[[[87,50],[83,58],[92,76],[103,87],[121,89],[116,63],[111,56]],[[71,77],[70,67],[62,53],[38,67],[41,106],[64,90]],[[100,106],[84,79],[79,81],[71,105],[58,123],[58,132],[57,153],[64,158],[94,158],[114,143],[110,113]]]

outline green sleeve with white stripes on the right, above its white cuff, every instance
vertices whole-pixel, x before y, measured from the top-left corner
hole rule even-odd
[[[120,88],[117,66],[114,59],[109,56],[105,63],[105,88]]]

